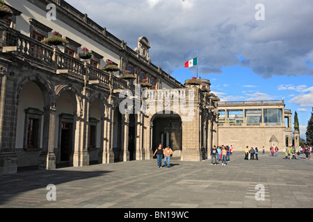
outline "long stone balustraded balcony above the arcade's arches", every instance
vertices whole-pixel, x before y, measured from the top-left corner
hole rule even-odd
[[[90,80],[93,80],[92,83],[106,85],[109,89],[131,89],[133,92],[135,89],[135,86],[126,80],[68,56],[57,47],[42,44],[31,37],[22,35],[2,21],[0,21],[0,49],[6,53],[13,53],[30,65],[56,74],[76,76],[82,80],[87,79],[90,83]]]

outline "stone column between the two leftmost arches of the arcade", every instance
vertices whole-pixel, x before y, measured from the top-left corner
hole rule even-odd
[[[39,169],[56,169],[54,153],[54,133],[56,129],[56,108],[44,108],[42,151],[39,156]]]

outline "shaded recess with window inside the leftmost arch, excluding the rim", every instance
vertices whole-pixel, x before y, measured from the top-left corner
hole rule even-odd
[[[38,156],[42,151],[44,130],[45,96],[44,86],[35,81],[27,82],[19,91],[17,109],[17,127],[15,137],[15,152],[18,167],[38,165]]]

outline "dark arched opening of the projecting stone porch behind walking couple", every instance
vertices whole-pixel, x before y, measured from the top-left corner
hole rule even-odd
[[[179,114],[154,114],[151,119],[152,128],[152,152],[162,144],[162,147],[170,146],[173,157],[182,154],[182,119]]]

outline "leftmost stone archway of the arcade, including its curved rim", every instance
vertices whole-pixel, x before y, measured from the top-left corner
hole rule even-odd
[[[19,167],[38,165],[38,155],[47,149],[47,126],[49,113],[53,107],[54,92],[47,80],[39,74],[26,76],[19,80],[15,90],[15,151],[19,159]],[[24,151],[33,152],[24,154]]]

